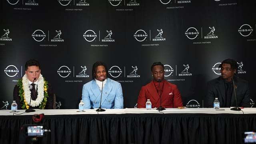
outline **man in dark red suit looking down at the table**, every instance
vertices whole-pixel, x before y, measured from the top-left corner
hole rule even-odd
[[[163,108],[183,106],[177,86],[164,80],[164,65],[161,62],[154,62],[151,66],[151,72],[153,80],[146,86],[142,86],[138,96],[137,108],[145,108],[147,99],[150,99],[152,108],[159,108],[160,95]]]

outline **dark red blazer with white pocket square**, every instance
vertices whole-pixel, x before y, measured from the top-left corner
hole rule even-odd
[[[150,99],[152,108],[160,107],[160,96],[156,91],[153,81],[146,86],[142,86],[137,100],[137,108],[145,108],[147,99]],[[175,84],[171,84],[164,80],[162,107],[177,108],[178,106],[183,106],[180,91]]]

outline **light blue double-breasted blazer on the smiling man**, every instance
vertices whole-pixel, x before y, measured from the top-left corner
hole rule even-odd
[[[82,100],[85,109],[94,109],[100,107],[101,90],[95,80],[87,82],[83,86]],[[119,82],[107,79],[102,90],[101,108],[124,108],[124,98],[122,86]]]

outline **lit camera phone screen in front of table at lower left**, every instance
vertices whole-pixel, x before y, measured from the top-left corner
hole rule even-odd
[[[43,125],[28,125],[26,126],[26,135],[27,136],[44,136],[44,126]]]

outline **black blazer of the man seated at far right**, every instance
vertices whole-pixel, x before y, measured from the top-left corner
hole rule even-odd
[[[250,107],[250,91],[249,84],[246,80],[242,80],[234,76],[234,84],[236,89],[236,100],[239,107]],[[220,107],[226,101],[224,79],[220,76],[207,83],[207,93],[205,97],[205,107],[212,108],[215,98],[220,101]],[[230,106],[236,107],[234,90],[231,97]]]

